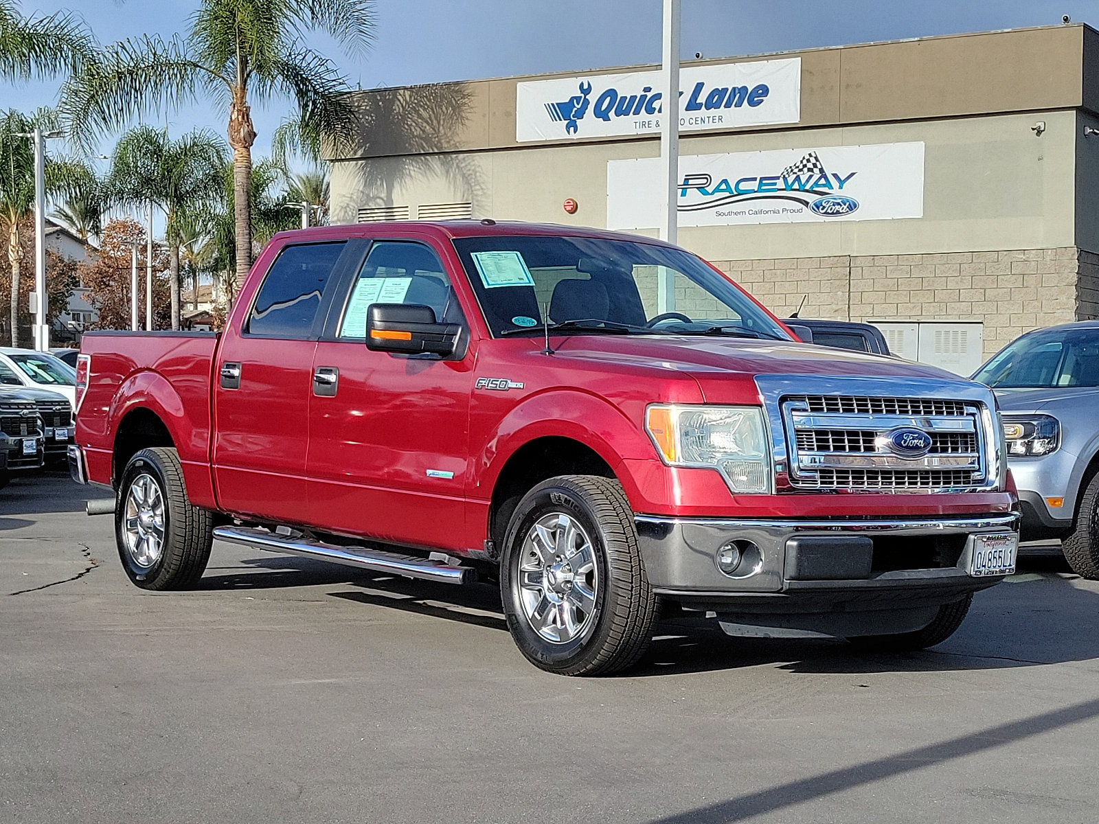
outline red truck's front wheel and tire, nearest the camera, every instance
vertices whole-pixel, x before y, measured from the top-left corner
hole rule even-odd
[[[551,478],[519,502],[500,566],[508,628],[536,667],[609,675],[644,655],[659,612],[618,481]]]

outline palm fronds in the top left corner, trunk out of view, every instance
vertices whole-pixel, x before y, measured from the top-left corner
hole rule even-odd
[[[92,51],[91,34],[75,14],[22,18],[18,2],[0,0],[0,77],[34,80],[75,71]]]

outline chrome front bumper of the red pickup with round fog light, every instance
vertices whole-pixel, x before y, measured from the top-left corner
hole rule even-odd
[[[915,592],[948,603],[966,592],[1001,580],[968,575],[972,537],[979,533],[1019,530],[1017,514],[912,520],[726,520],[667,519],[637,515],[640,548],[650,582],[663,595],[689,600],[733,600],[737,609],[756,601],[777,606],[776,598],[852,602],[859,593],[879,600],[885,592]],[[917,538],[918,541],[904,539]],[[919,538],[926,538],[925,542]],[[913,560],[903,567],[906,547],[922,552],[937,545],[953,547],[934,568]],[[730,577],[717,565],[720,548],[730,542],[758,547],[758,570]],[[742,546],[746,544],[741,544]],[[945,550],[944,550],[945,552]],[[888,571],[877,571],[889,553]],[[953,557],[956,555],[957,557]],[[898,561],[899,558],[899,561]],[[953,563],[951,563],[953,561]],[[740,571],[740,570],[737,570]],[[745,570],[747,571],[747,570]],[[792,606],[787,603],[786,608]]]

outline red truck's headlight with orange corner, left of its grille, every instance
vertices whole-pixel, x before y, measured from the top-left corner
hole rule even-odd
[[[668,466],[717,469],[734,492],[770,491],[770,445],[758,407],[654,403],[645,428]]]

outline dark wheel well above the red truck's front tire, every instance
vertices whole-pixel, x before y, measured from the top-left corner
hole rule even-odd
[[[499,549],[511,513],[528,490],[558,475],[598,475],[613,478],[614,471],[599,453],[567,437],[540,437],[523,444],[508,458],[492,489],[488,531]]]

